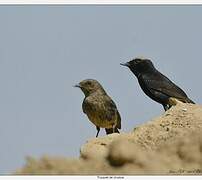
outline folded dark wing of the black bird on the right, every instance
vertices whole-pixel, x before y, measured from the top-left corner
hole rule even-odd
[[[172,81],[167,77],[158,77],[158,78],[145,78],[146,86],[149,88],[149,91],[156,93],[162,93],[169,97],[175,97],[179,99],[187,98],[185,92],[176,86]]]

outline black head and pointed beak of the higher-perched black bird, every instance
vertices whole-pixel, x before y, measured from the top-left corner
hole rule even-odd
[[[122,66],[128,67],[137,77],[141,73],[146,73],[154,69],[154,65],[149,59],[135,58],[127,63],[121,63]]]

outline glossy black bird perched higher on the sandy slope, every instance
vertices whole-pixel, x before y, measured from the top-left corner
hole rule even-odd
[[[150,59],[135,58],[129,62],[120,63],[120,65],[126,66],[132,71],[144,93],[152,100],[162,104],[165,111],[173,105],[169,98],[195,104],[180,87],[159,72]]]

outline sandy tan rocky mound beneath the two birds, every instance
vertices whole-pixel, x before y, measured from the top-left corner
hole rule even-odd
[[[79,158],[29,157],[16,174],[202,174],[202,106],[178,102],[132,132],[88,140]]]

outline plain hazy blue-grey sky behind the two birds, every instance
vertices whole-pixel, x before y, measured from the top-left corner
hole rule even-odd
[[[202,6],[0,6],[0,173],[27,155],[79,155],[96,134],[72,87],[85,78],[116,102],[122,132],[162,114],[119,65],[133,57],[201,103],[201,19]]]

